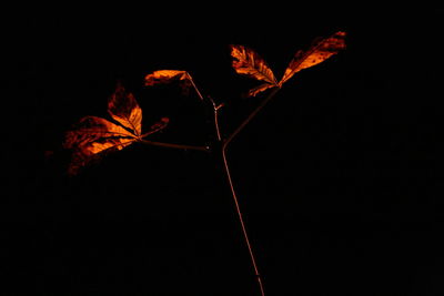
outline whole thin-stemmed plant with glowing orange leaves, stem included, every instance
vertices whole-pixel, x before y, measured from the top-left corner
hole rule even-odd
[[[180,70],[159,70],[148,74],[144,78],[145,86],[153,86],[161,83],[179,81],[183,90],[193,89],[199,99],[208,103],[212,109],[212,122],[214,123],[215,140],[211,145],[194,146],[176,143],[163,143],[147,140],[145,137],[167,127],[168,118],[161,119],[151,125],[149,131],[142,131],[142,109],[139,106],[132,93],[127,92],[123,85],[118,84],[115,92],[108,102],[108,113],[111,119],[107,120],[98,116],[85,116],[79,124],[67,133],[64,146],[72,150],[72,159],[69,165],[69,173],[77,174],[79,170],[85,166],[91,160],[99,157],[108,152],[119,151],[132,143],[143,143],[170,149],[195,150],[206,153],[215,153],[222,157],[223,170],[225,172],[230,191],[234,200],[235,211],[241,224],[243,237],[250,254],[250,259],[258,278],[259,289],[262,296],[265,295],[262,284],[262,277],[253,253],[252,244],[249,239],[245,223],[239,205],[233,180],[230,173],[230,166],[226,159],[226,152],[230,143],[245,127],[245,125],[263,109],[263,106],[281,90],[294,74],[303,69],[316,65],[339,51],[345,49],[345,32],[339,31],[329,38],[317,39],[307,50],[297,51],[287,65],[281,80],[276,80],[273,71],[266,62],[252,49],[243,45],[231,45],[232,67],[241,75],[255,79],[260,82],[258,86],[248,91],[248,96],[259,96],[268,93],[265,99],[239,124],[229,136],[223,137],[220,129],[220,110],[224,104],[216,104],[211,96],[202,95],[195,85],[192,76],[186,71]]]

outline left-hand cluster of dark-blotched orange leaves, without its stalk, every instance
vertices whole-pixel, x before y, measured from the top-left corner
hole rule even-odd
[[[108,112],[117,123],[98,116],[85,116],[65,135],[63,146],[72,150],[70,175],[102,155],[122,150],[142,137],[164,129],[168,119],[152,125],[142,134],[142,110],[132,93],[128,93],[121,84],[108,101]]]

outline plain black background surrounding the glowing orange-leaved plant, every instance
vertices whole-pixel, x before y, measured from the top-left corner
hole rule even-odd
[[[189,71],[225,102],[226,135],[261,100],[241,98],[255,84],[234,73],[229,44],[253,48],[279,78],[296,50],[343,30],[347,50],[290,80],[229,150],[266,295],[442,295],[442,19],[188,3],[14,19],[0,289],[259,295],[215,155],[133,144],[68,177],[63,133],[107,116],[122,81],[143,126],[171,120],[151,140],[206,144],[198,96],[145,89],[145,74]]]

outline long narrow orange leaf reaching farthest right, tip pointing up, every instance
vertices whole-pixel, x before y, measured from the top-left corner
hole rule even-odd
[[[339,31],[329,38],[317,41],[306,51],[297,51],[279,82],[279,86],[299,71],[316,65],[343,49],[345,49],[345,32]]]

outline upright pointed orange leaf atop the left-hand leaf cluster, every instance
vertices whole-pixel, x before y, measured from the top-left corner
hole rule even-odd
[[[120,124],[133,131],[135,135],[142,132],[142,109],[139,106],[132,93],[118,84],[115,92],[108,101],[108,113]]]

